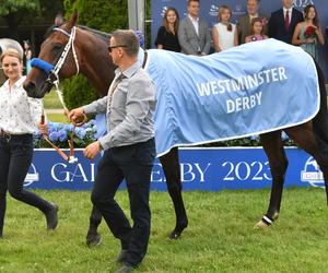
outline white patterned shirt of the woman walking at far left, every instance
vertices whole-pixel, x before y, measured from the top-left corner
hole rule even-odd
[[[28,97],[23,88],[25,76],[9,86],[0,87],[0,129],[11,134],[33,133],[40,119],[42,99]]]

